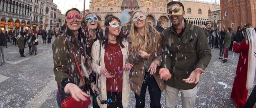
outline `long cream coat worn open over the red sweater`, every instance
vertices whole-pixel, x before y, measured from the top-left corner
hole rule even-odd
[[[123,64],[128,64],[128,43],[126,41],[123,41],[122,44],[124,45],[124,48],[121,48],[122,54],[123,54]],[[103,76],[100,72],[101,68],[105,68],[105,62],[104,62],[104,54],[105,54],[105,49],[103,48],[101,44],[101,58],[99,55],[99,50],[100,50],[100,41],[97,40],[93,43],[92,45],[92,71],[97,72],[99,74],[99,80],[98,77],[97,81],[98,82],[98,89],[99,89],[99,98],[101,100],[107,100],[107,90],[106,90],[106,77]],[[101,60],[100,66],[99,64],[99,59]],[[123,70],[123,90],[122,90],[122,103],[123,107],[126,107],[130,104],[130,94],[131,94],[131,87],[130,87],[130,80],[129,80],[129,75],[126,70]],[[107,108],[107,104],[102,105],[100,103],[100,100],[97,98],[98,105],[101,108]]]

